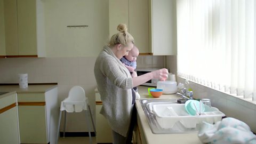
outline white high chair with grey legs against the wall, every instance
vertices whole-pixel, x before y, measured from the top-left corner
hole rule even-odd
[[[59,138],[59,133],[60,133],[60,121],[61,121],[61,114],[62,111],[65,110],[65,122],[64,122],[64,130],[63,130],[63,137],[65,137],[65,129],[66,129],[66,112],[68,113],[79,113],[83,110],[85,110],[85,118],[86,118],[86,125],[88,127],[88,133],[90,137],[90,143],[92,143],[92,138],[91,138],[91,131],[90,131],[90,124],[89,124],[89,118],[87,110],[90,112],[91,116],[91,121],[93,125],[93,130],[94,133],[96,134],[95,131],[95,126],[92,118],[92,112],[91,108],[88,102],[88,98],[85,96],[85,92],[83,87],[81,86],[74,86],[69,90],[68,93],[68,98],[63,100],[60,105],[60,115],[59,115],[59,124],[58,124],[58,133],[57,133],[57,139],[56,139],[56,144],[58,144],[58,138]]]

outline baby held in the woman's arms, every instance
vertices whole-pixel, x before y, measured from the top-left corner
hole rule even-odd
[[[137,67],[137,57],[139,55],[139,49],[136,46],[132,47],[132,50],[129,51],[128,55],[125,55],[120,60],[123,62],[124,66],[130,71],[132,77],[137,77],[137,73],[134,71]],[[136,99],[140,99],[140,94],[138,93],[138,88],[133,87],[133,90],[136,93]]]

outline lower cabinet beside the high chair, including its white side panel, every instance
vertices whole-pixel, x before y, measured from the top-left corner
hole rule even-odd
[[[19,93],[21,143],[55,143],[58,123],[58,89]]]

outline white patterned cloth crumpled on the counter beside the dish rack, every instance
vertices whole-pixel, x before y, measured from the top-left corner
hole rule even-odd
[[[215,124],[203,122],[198,132],[198,138],[204,143],[256,143],[250,127],[235,118],[223,118]]]

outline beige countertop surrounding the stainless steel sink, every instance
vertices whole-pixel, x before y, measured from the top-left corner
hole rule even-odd
[[[148,86],[138,86],[138,92],[140,94],[140,99],[179,99],[176,94],[163,94],[160,98],[153,98],[148,95]],[[137,113],[139,115],[140,123],[142,126],[143,133],[145,134],[145,139],[148,144],[150,143],[202,143],[198,137],[197,133],[172,133],[172,134],[154,134],[152,133],[150,126],[147,121],[147,117],[141,107],[140,101],[136,101]]]

